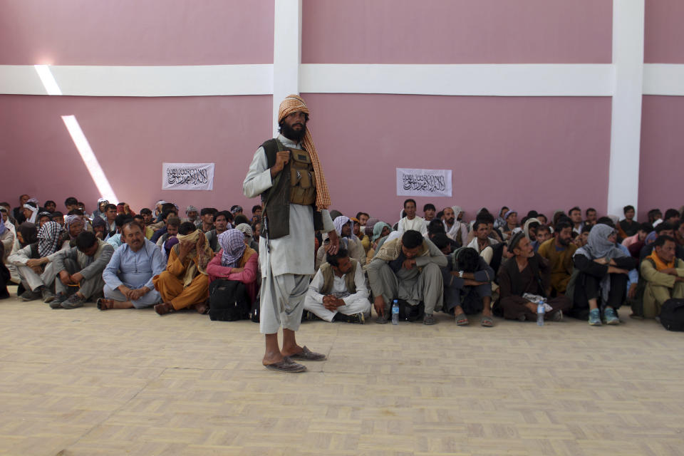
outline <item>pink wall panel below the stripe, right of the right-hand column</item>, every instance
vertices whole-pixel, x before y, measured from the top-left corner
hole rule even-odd
[[[641,118],[639,164],[639,217],[649,209],[663,213],[684,204],[682,145],[684,144],[684,97],[644,96]]]

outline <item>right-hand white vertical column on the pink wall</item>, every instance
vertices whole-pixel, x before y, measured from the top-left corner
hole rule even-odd
[[[644,1],[613,0],[615,92],[608,214],[620,216],[627,204],[637,206],[639,196]]]

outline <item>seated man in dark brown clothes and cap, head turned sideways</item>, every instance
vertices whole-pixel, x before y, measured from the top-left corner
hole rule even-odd
[[[534,253],[532,244],[522,232],[513,234],[507,249],[514,257],[505,260],[497,274],[500,296],[497,308],[509,320],[536,321],[537,304],[522,296],[528,293],[548,296],[551,268],[546,259]],[[551,310],[544,313],[544,319],[561,321],[563,311],[570,308],[571,301],[565,296],[557,296],[548,299],[546,304]]]

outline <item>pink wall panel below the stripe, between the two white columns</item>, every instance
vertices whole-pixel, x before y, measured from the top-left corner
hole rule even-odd
[[[578,204],[604,212],[610,98],[304,94],[333,209],[398,219],[395,168],[452,169],[467,219],[502,205],[551,216]],[[589,165],[591,164],[591,165]],[[422,213],[422,212],[421,212]]]

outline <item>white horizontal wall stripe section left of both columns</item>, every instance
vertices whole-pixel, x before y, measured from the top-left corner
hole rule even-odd
[[[50,66],[63,95],[270,95],[273,66]],[[0,66],[0,93],[46,95],[36,68]]]

